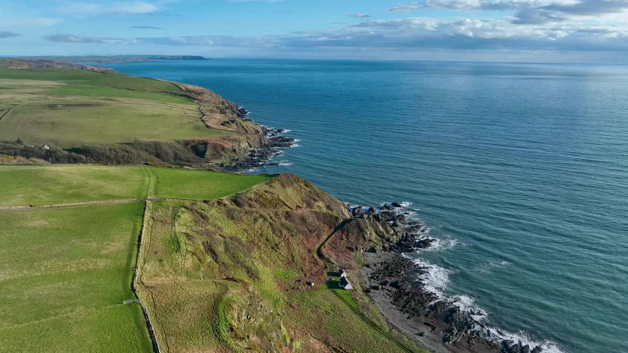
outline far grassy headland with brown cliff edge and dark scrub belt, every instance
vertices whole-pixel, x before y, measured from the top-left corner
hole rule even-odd
[[[0,59],[0,164],[217,165],[269,144],[243,118],[201,87]]]

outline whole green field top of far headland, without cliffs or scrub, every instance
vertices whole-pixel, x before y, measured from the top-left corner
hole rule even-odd
[[[0,139],[63,148],[229,133],[208,129],[176,85],[115,73],[0,68],[0,111],[11,108],[0,121]]]

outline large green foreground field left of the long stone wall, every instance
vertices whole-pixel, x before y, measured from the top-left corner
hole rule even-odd
[[[0,211],[0,352],[151,352],[131,291],[142,204]]]

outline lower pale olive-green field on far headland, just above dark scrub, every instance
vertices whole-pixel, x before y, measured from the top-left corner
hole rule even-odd
[[[54,143],[72,148],[135,139],[169,141],[228,134],[207,128],[200,120],[202,114],[187,107],[187,104],[178,107],[78,96],[48,98],[17,107],[4,117],[0,121],[0,138],[19,137],[27,143]]]

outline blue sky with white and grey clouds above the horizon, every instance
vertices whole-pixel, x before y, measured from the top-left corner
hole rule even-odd
[[[628,0],[0,0],[0,55],[628,63]]]

